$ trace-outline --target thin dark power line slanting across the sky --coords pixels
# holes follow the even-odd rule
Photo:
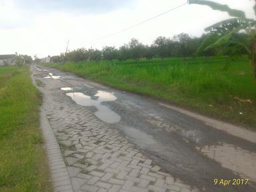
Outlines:
[[[148,21],[151,21],[151,20],[153,20],[153,19],[155,19],[155,18],[157,18],[157,17],[160,17],[160,16],[162,16],[162,15],[165,15],[166,13],[169,13],[169,12],[171,12],[171,11],[174,11],[175,9],[179,9],[179,8],[182,7],[183,5],[186,5],[187,3],[188,3],[188,1],[187,1],[186,3],[183,3],[183,4],[179,5],[179,6],[177,6],[177,7],[171,8],[171,9],[169,9],[169,10],[163,12],[163,13],[160,13],[159,15],[155,15],[154,17],[151,17],[151,18],[149,18],[149,19],[147,19],[147,20],[145,20],[145,21],[141,21],[140,23],[137,23],[137,24],[135,24],[135,25],[132,25],[131,27],[127,27],[127,28],[125,28],[125,29],[123,29],[123,30],[121,30],[121,31],[117,31],[117,32],[111,33],[111,34],[109,34],[109,35],[105,35],[105,36],[103,36],[103,37],[99,37],[99,38],[93,39],[92,41],[97,41],[97,40],[100,40],[100,39],[105,39],[105,38],[107,38],[107,37],[111,37],[111,36],[113,36],[113,35],[117,35],[117,34],[119,34],[119,33],[122,33],[122,32],[124,32],[124,31],[129,30],[129,29],[132,29],[132,28],[134,28],[134,27],[137,27],[138,25],[141,25],[141,24],[143,24],[143,23],[146,23],[146,22],[148,22]]]

